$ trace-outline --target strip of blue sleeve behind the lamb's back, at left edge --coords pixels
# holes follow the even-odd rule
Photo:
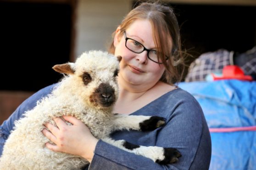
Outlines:
[[[36,106],[37,101],[48,95],[54,86],[55,84],[47,86],[30,96],[17,107],[16,111],[13,112],[7,120],[3,122],[3,124],[0,126],[0,155],[2,154],[6,139],[10,135],[11,130],[13,130],[14,122],[20,119],[24,112],[33,109],[33,107]]]

